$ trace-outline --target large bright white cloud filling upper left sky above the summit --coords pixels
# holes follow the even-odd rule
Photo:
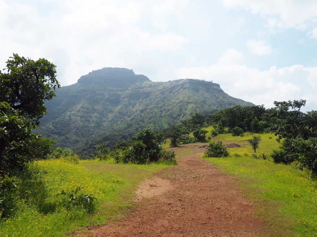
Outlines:
[[[103,67],[135,69],[154,61],[166,62],[189,43],[169,29],[168,19],[181,18],[186,1],[69,0],[54,4],[56,9],[41,9],[32,2],[0,0],[0,45],[5,46],[1,48],[1,69],[13,52],[46,58],[57,66],[61,84],[69,85]]]

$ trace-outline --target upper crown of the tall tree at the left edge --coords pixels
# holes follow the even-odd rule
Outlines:
[[[13,54],[6,62],[7,73],[0,72],[0,101],[5,101],[19,115],[39,125],[47,112],[44,100],[55,96],[60,88],[56,79],[56,66],[44,58],[37,61]]]

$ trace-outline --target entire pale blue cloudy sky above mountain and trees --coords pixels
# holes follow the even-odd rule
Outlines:
[[[316,0],[0,0],[0,26],[0,69],[12,53],[46,58],[62,86],[123,67],[317,110]]]

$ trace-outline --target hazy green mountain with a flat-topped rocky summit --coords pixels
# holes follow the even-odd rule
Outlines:
[[[251,106],[219,84],[197,79],[152,82],[126,68],[103,68],[56,90],[45,102],[48,113],[39,132],[60,146],[90,154],[97,143],[126,140],[140,128],[166,128],[194,112]]]

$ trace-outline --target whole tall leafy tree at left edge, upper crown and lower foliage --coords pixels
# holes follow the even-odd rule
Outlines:
[[[44,100],[51,100],[60,84],[56,66],[44,58],[34,61],[13,54],[6,63],[7,73],[0,71],[0,162],[14,166],[32,159],[26,152],[36,136],[31,129],[47,112]]]

